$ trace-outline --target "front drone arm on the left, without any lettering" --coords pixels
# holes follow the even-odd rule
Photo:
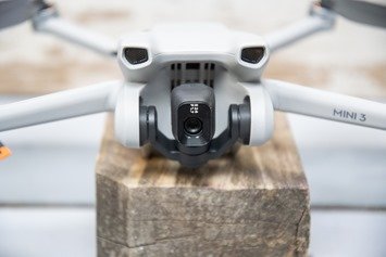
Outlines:
[[[121,86],[112,81],[0,105],[0,131],[113,111]]]

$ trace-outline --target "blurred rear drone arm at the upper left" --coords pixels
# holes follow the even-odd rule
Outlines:
[[[33,25],[36,31],[54,35],[104,55],[116,55],[114,40],[61,18],[53,7],[39,11],[33,17]]]

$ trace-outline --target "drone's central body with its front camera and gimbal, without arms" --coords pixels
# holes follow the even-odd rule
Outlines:
[[[117,57],[126,82],[117,97],[115,134],[124,145],[149,141],[166,156],[197,166],[238,139],[259,145],[271,138],[273,107],[259,86],[269,60],[262,38],[216,24],[170,24],[127,36]],[[246,108],[236,116],[248,116],[236,118],[244,131],[233,131],[232,143],[224,136],[232,133],[231,105]],[[154,125],[144,121],[149,107]],[[189,124],[197,131],[189,131]]]

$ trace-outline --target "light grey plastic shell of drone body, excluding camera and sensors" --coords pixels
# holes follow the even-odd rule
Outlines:
[[[241,60],[244,48],[263,47],[265,54],[257,64]],[[126,48],[145,48],[148,61],[133,65],[124,56]],[[251,103],[250,145],[269,140],[273,130],[273,106],[260,85],[269,60],[269,49],[257,35],[228,30],[219,24],[161,25],[152,30],[127,35],[120,42],[119,63],[126,80],[116,105],[115,134],[128,147],[139,147],[139,104],[153,105],[158,127],[174,139],[171,121],[171,64],[214,63],[215,133],[228,125],[231,104]],[[184,82],[184,81],[182,81]]]

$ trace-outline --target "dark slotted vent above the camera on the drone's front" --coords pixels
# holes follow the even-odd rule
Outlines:
[[[183,83],[204,83],[213,87],[214,63],[173,63],[171,64],[172,89]]]

